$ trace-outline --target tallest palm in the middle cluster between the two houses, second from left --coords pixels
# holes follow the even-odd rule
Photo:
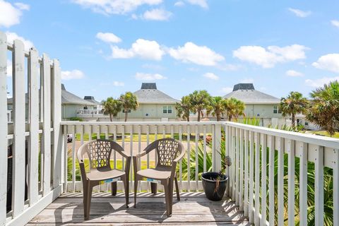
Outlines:
[[[191,99],[192,111],[198,113],[198,121],[200,121],[203,109],[208,108],[210,102],[212,102],[212,97],[206,90],[196,90],[189,95],[189,98]]]

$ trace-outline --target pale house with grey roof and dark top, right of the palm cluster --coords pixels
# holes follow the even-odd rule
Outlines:
[[[233,91],[224,96],[224,98],[230,97],[244,102],[246,117],[261,119],[262,126],[286,123],[279,109],[280,99],[256,90],[253,83],[234,85]]]

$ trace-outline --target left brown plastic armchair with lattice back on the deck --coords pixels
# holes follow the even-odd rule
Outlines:
[[[112,150],[116,150],[120,155],[126,157],[125,170],[112,169],[110,158]],[[124,152],[124,149],[114,141],[97,139],[81,145],[78,150],[78,162],[81,169],[81,179],[83,181],[83,213],[85,220],[90,216],[90,200],[92,198],[93,187],[102,181],[111,179],[121,179],[124,182],[126,208],[129,207],[129,169],[131,166],[131,156]],[[90,172],[85,171],[84,158],[88,157],[90,162]],[[111,182],[112,196],[117,194],[117,181]]]

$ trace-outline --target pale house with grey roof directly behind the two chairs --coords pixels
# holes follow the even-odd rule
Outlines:
[[[175,104],[179,100],[157,89],[156,83],[142,83],[141,89],[134,92],[139,107],[129,113],[129,121],[177,121]],[[124,119],[124,112],[118,115]]]

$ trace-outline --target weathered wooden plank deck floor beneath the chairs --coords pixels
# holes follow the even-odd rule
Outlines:
[[[129,208],[124,194],[115,197],[107,193],[93,194],[90,220],[83,220],[82,194],[63,194],[28,225],[250,225],[228,198],[209,201],[201,192],[182,193],[181,201],[174,199],[172,217],[165,213],[165,196],[160,193],[138,194]]]

